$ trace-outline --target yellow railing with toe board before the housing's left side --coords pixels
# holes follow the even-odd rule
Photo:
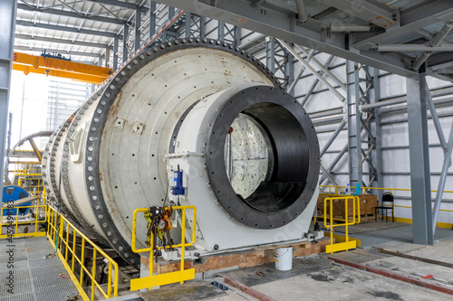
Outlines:
[[[169,209],[169,207],[166,207]],[[151,232],[151,237],[149,240],[149,248],[144,249],[137,249],[136,248],[136,240],[137,240],[137,213],[149,212],[149,208],[140,208],[136,209],[133,214],[133,221],[132,221],[132,251],[135,253],[142,253],[142,252],[149,252],[149,277],[140,277],[138,279],[131,279],[130,280],[130,290],[138,290],[143,288],[152,287],[159,287],[164,286],[172,283],[180,283],[182,284],[184,281],[191,280],[195,277],[195,268],[184,269],[184,252],[186,247],[192,247],[195,244],[196,239],[196,225],[197,225],[197,208],[195,206],[172,206],[171,209],[173,212],[177,210],[182,211],[181,217],[181,243],[178,245],[172,245],[172,248],[180,248],[180,270],[176,272],[170,272],[165,274],[159,275],[152,275],[153,274],[153,257],[154,257],[154,246],[153,246],[153,234]],[[186,238],[186,211],[192,210],[193,217],[192,217],[192,240],[189,242],[184,242]],[[158,247],[158,249],[164,249],[164,247]],[[169,246],[165,246],[165,249],[169,249]],[[158,254],[156,254],[158,256]]]

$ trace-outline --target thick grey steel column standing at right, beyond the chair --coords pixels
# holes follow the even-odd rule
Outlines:
[[[433,244],[425,76],[408,77],[410,186],[414,243]]]

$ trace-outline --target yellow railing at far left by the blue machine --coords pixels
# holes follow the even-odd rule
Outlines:
[[[32,201],[35,205],[8,207],[7,203],[0,210],[0,240],[18,237],[41,237],[45,236],[45,229],[40,228],[40,223],[47,221],[47,198],[45,192],[42,200]],[[32,214],[26,215],[28,219],[19,221],[21,209],[28,209]],[[24,226],[24,227],[19,227]]]

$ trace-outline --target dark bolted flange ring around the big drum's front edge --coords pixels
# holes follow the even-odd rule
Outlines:
[[[101,174],[99,163],[103,128],[117,95],[121,93],[121,89],[123,89],[128,80],[130,80],[136,72],[146,66],[149,61],[152,61],[159,56],[169,52],[195,47],[211,48],[234,53],[244,61],[254,65],[256,70],[262,71],[269,80],[275,83],[275,85],[280,85],[280,82],[275,78],[275,75],[269,71],[263,63],[257,61],[251,54],[240,48],[226,42],[190,38],[165,42],[156,46],[151,45],[145,48],[142,52],[139,52],[135,57],[130,59],[130,61],[127,62],[105,86],[106,89],[102,93],[101,98],[95,103],[95,113],[92,118],[86,144],[85,156],[90,157],[92,161],[90,162],[90,165],[86,166],[85,184],[86,187],[89,187],[88,195],[91,200],[92,211],[94,212],[98,223],[102,225],[101,229],[105,237],[110,241],[112,248],[116,249],[123,259],[136,267],[140,266],[140,257],[131,252],[130,241],[125,240],[120,235],[120,231],[117,229],[115,221],[111,219],[109,207],[107,206],[102,193],[101,179],[99,177]]]

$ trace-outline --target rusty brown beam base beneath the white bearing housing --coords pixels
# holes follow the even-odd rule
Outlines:
[[[210,255],[198,260],[187,259],[184,262],[184,268],[195,268],[195,273],[203,273],[222,268],[247,268],[259,266],[268,262],[275,262],[275,249],[293,247],[293,257],[308,256],[311,254],[321,254],[325,252],[325,246],[330,241],[323,239],[317,243],[297,242],[280,245],[269,245],[256,247],[240,252],[229,252],[219,255]],[[141,263],[149,268],[149,258],[141,256]],[[159,259],[159,262],[153,264],[153,273],[163,274],[175,272],[180,269],[179,261],[167,261]]]

